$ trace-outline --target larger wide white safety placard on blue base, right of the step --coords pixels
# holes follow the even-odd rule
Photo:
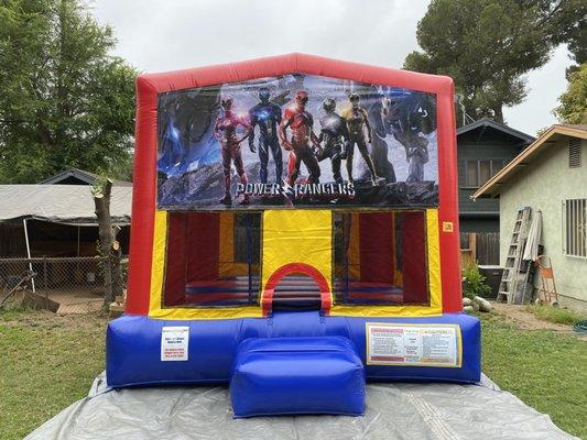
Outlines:
[[[367,322],[367,364],[458,367],[458,324]]]

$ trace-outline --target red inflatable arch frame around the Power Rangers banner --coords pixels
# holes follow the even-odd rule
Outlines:
[[[137,138],[132,234],[126,312],[149,314],[153,230],[156,208],[157,95],[292,73],[390,85],[436,95],[438,141],[438,230],[443,311],[461,310],[458,188],[454,84],[444,76],[368,66],[313,55],[290,54],[198,67],[137,78]]]

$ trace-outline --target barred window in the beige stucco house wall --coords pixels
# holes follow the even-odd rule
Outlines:
[[[587,199],[563,201],[563,253],[587,257]]]

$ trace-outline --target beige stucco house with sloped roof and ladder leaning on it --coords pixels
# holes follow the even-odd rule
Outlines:
[[[587,125],[551,127],[472,195],[496,197],[501,264],[518,209],[542,211],[541,244],[552,261],[558,301],[587,311]]]

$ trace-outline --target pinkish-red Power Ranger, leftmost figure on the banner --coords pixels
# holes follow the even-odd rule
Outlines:
[[[252,128],[244,118],[239,118],[232,112],[232,98],[222,98],[220,106],[224,112],[221,116],[218,116],[214,124],[214,136],[222,145],[222,168],[225,174],[225,197],[219,202],[230,205],[232,202],[232,198],[230,197],[230,162],[232,161],[235,163],[240,183],[247,184],[248,179],[244,173],[244,166],[242,165],[240,143],[249,136]],[[237,128],[239,125],[247,130],[240,139],[237,136]],[[240,204],[248,205],[249,196],[244,195]]]

